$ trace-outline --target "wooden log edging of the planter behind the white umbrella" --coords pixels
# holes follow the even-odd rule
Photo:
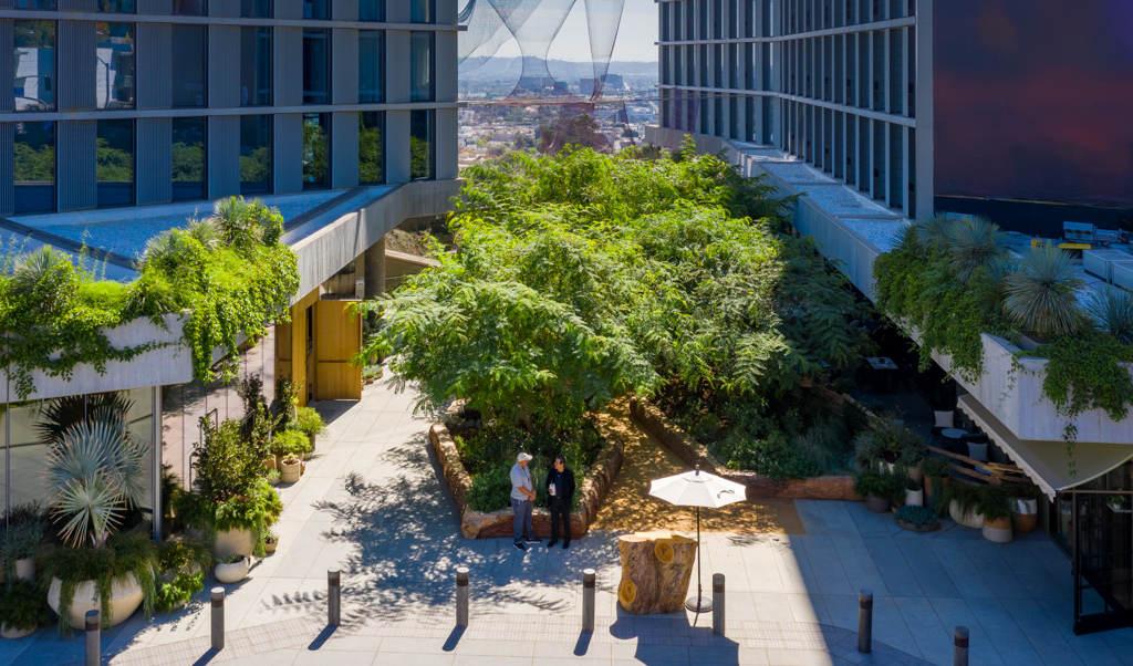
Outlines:
[[[688,435],[668,419],[657,405],[647,400],[633,398],[630,413],[650,435],[680,458],[689,467],[700,469],[747,486],[748,500],[780,497],[783,500],[847,500],[860,501],[853,492],[853,477],[828,475],[809,479],[776,480],[765,475],[727,469],[708,447]]]

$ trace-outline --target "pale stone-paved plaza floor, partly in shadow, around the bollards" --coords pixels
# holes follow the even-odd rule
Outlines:
[[[629,616],[614,594],[621,531],[526,554],[510,539],[462,538],[427,444],[431,419],[415,417],[412,402],[380,382],[359,403],[318,405],[330,433],[303,479],[281,486],[279,550],[225,586],[225,650],[208,651],[202,595],[179,613],[107,632],[110,663],[952,664],[956,625],[971,630],[972,664],[1133,663],[1133,631],[1072,634],[1070,563],[1045,535],[1000,546],[951,521],[917,535],[853,502],[795,502],[802,530],[787,531],[806,533],[704,535],[705,580],[727,581],[726,638],[712,635],[710,616]],[[463,632],[453,629],[459,565],[471,570]],[[598,571],[593,634],[579,631],[585,567]],[[341,569],[343,584],[333,632],[324,627],[329,569]],[[855,650],[860,589],[875,598],[869,657]],[[0,665],[82,658],[82,637],[54,629],[0,641]]]

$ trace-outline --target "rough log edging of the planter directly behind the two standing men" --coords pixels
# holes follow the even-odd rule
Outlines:
[[[585,535],[594,519],[598,514],[602,502],[610,493],[610,487],[614,484],[617,472],[622,469],[622,455],[625,451],[625,443],[603,425],[597,424],[606,444],[598,452],[597,462],[590,468],[578,486],[577,493],[581,494],[579,510],[571,513],[571,538]],[[468,507],[468,490],[472,487],[472,478],[457,451],[457,444],[452,441],[449,428],[441,421],[433,424],[428,430],[429,442],[433,451],[441,462],[444,471],[444,480],[452,493],[452,498],[457,502],[457,511],[460,513],[460,531],[468,539],[487,539],[512,536],[514,523],[514,512],[511,509],[503,509],[484,513],[472,511]],[[539,480],[538,483],[542,483]],[[551,512],[544,507],[536,507],[531,516],[531,526],[535,528],[535,536],[540,539],[551,537]]]

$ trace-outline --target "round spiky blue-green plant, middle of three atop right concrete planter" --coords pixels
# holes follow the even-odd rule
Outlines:
[[[1070,254],[1045,242],[1023,255],[1019,271],[1007,276],[1004,309],[1024,331],[1068,335],[1082,319],[1075,296],[1081,287]]]

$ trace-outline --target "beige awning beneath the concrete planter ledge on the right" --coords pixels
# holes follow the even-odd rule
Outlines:
[[[960,409],[1021,467],[1053,501],[1055,493],[1092,481],[1133,458],[1133,445],[1077,442],[1073,459],[1062,439],[1020,439],[971,395],[960,399]],[[1070,463],[1073,460],[1074,470]]]

